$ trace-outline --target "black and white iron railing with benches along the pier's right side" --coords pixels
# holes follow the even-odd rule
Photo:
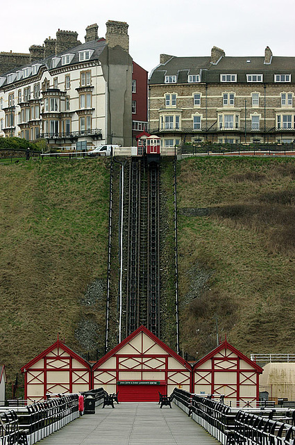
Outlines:
[[[174,403],[224,445],[295,445],[295,411],[229,407],[212,396],[174,389]]]

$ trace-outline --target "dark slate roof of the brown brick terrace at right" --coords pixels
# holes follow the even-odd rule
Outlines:
[[[189,74],[201,74],[201,82],[208,83],[219,82],[220,74],[237,74],[237,82],[244,83],[246,74],[263,74],[263,81],[271,83],[274,74],[291,74],[291,82],[295,83],[295,57],[273,56],[271,63],[267,65],[264,63],[264,56],[224,56],[217,65],[213,65],[210,57],[171,56],[167,63],[154,68],[149,83],[165,83],[166,75],[176,75],[177,83],[187,83]]]

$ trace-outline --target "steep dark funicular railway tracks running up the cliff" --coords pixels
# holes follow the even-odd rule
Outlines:
[[[142,159],[129,165],[126,334],[145,325],[160,334],[159,172]]]

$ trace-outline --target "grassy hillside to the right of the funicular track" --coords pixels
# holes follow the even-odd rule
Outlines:
[[[293,159],[178,163],[181,339],[193,356],[217,331],[244,353],[294,352],[294,204]]]

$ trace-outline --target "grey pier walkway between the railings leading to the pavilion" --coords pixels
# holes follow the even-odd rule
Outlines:
[[[218,445],[201,426],[174,403],[129,402],[96,407],[62,430],[42,439],[42,445]]]

